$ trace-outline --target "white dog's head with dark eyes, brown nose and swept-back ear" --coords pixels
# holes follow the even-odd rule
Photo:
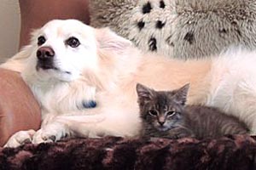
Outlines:
[[[83,71],[97,70],[99,48],[122,50],[131,42],[108,29],[78,20],[51,20],[32,33],[30,70],[41,79],[73,81]]]

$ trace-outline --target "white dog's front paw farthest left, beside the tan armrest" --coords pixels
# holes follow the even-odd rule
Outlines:
[[[3,147],[15,148],[22,144],[27,144],[32,142],[32,137],[36,133],[34,130],[19,131],[12,135],[8,142]]]

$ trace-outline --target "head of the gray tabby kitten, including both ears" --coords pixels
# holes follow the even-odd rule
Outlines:
[[[138,104],[143,122],[160,131],[181,126],[188,90],[189,84],[172,91],[155,91],[138,83]]]

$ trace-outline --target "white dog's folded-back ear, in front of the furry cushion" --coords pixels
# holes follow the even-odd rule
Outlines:
[[[98,48],[122,52],[132,46],[132,42],[120,37],[109,28],[96,29]]]

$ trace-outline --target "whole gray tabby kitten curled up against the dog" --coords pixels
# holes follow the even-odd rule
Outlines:
[[[173,91],[155,91],[137,84],[142,137],[205,139],[249,132],[247,125],[235,116],[212,107],[185,105],[188,90],[189,84]]]

